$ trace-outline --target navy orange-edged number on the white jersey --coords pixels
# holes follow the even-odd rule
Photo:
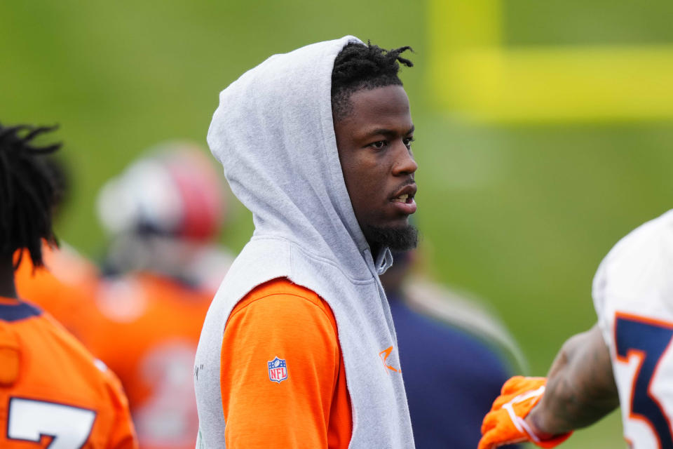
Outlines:
[[[659,362],[673,339],[673,323],[620,314],[615,317],[617,360],[628,363],[632,356],[640,358],[631,387],[629,417],[642,420],[651,427],[660,449],[673,449],[671,420],[651,391]],[[671,382],[671,380],[666,380]]]

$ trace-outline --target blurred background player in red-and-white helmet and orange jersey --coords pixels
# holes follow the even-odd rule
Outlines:
[[[194,446],[193,358],[231,262],[213,243],[226,211],[223,192],[195,145],[150,149],[100,192],[98,215],[109,234],[100,269],[73,251],[55,252],[49,273],[20,286],[39,302],[48,300],[46,290],[75,290],[69,297],[78,299],[45,307],[74,312],[64,322],[118,374],[144,449]]]

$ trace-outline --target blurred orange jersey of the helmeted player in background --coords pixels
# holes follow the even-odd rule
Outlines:
[[[87,347],[119,376],[143,449],[192,449],[193,362],[210,290],[152,274],[101,279]]]

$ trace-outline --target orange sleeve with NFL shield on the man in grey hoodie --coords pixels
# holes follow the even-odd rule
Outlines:
[[[228,449],[348,448],[337,321],[313,291],[275,279],[248,293],[226,322],[220,370]]]

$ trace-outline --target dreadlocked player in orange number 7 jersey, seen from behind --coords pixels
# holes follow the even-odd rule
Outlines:
[[[0,126],[0,447],[136,448],[114,374],[15,291],[22,260],[40,267],[43,241],[56,245],[59,192],[45,158],[60,145],[33,143],[50,129]]]

